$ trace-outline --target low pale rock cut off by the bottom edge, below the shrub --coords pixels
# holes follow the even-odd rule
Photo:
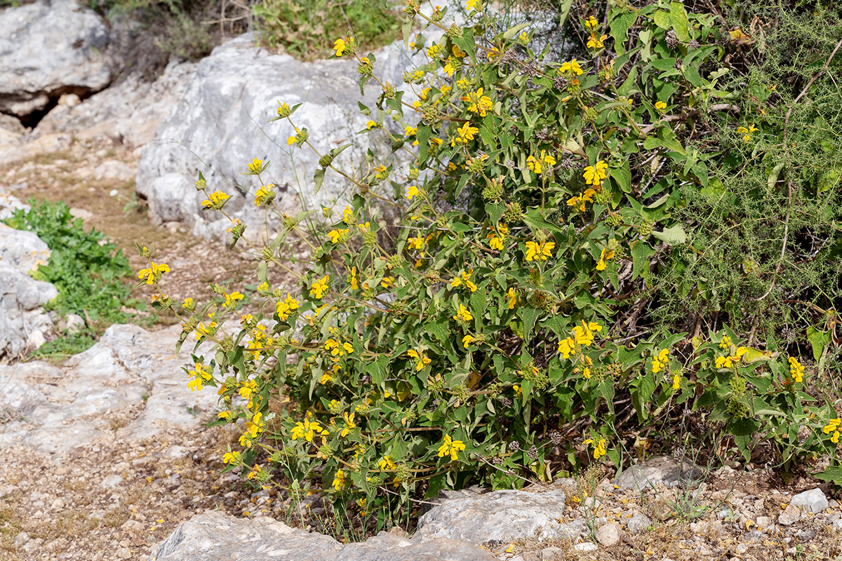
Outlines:
[[[408,540],[386,532],[343,545],[333,537],[290,528],[269,517],[235,518],[208,512],[182,523],[152,548],[149,561],[493,561],[470,543],[451,539]]]

